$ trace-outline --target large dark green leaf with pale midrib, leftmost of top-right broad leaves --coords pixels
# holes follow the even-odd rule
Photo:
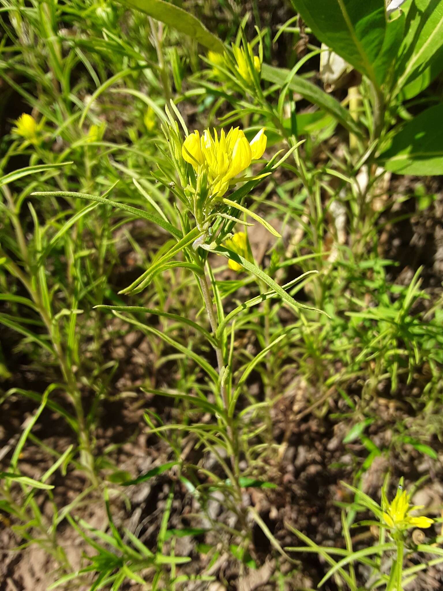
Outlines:
[[[292,0],[318,40],[376,81],[386,31],[385,0]]]

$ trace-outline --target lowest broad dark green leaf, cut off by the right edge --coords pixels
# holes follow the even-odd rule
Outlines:
[[[393,173],[443,174],[443,103],[420,113],[392,139],[379,163]]]

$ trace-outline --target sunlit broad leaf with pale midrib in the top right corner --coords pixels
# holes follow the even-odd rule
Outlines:
[[[423,72],[443,47],[443,0],[413,0],[405,31],[396,60],[397,91],[416,70]]]

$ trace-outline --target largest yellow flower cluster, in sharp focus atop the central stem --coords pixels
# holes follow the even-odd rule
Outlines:
[[[249,143],[243,131],[236,127],[231,128],[227,134],[222,129],[220,138],[216,129],[214,137],[209,129],[201,137],[198,131],[194,131],[185,139],[181,153],[184,160],[193,165],[197,174],[207,174],[209,194],[212,197],[222,197],[229,182],[245,170],[252,160],[261,158],[265,148],[264,129],[260,129]]]

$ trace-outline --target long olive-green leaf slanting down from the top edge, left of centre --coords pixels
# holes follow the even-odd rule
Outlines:
[[[164,0],[118,0],[118,2],[126,7],[146,12],[150,17],[164,22],[180,33],[189,35],[208,49],[220,53],[224,50],[222,41],[207,30],[198,18],[187,10],[174,6],[171,2],[164,2]]]

